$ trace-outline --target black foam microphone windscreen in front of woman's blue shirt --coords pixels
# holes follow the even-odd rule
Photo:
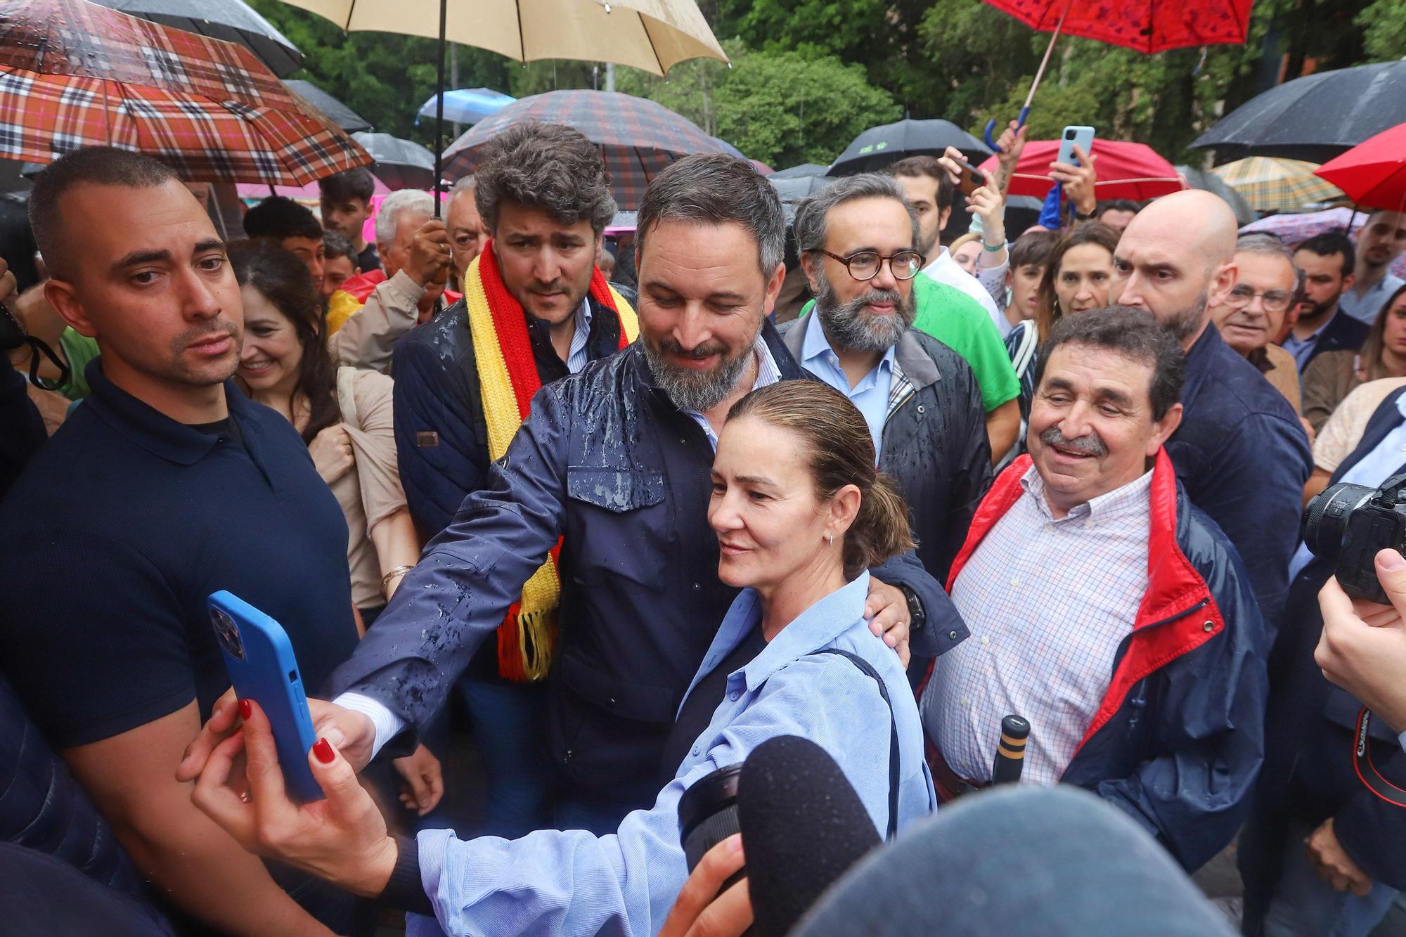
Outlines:
[[[879,846],[869,812],[824,748],[768,739],[737,784],[756,937],[782,937],[859,858]]]

